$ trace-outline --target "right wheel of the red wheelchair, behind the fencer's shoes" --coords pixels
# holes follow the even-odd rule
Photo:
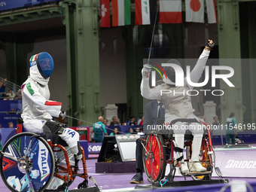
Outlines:
[[[203,142],[205,142],[205,141],[203,141]],[[209,157],[208,157],[207,152],[208,152],[207,148],[203,148],[203,146],[201,146],[200,153],[199,153],[199,160],[203,161],[200,163],[203,167],[206,168],[207,171],[212,172],[212,166],[210,166],[210,164],[209,164]],[[187,157],[187,160],[190,160],[190,146],[186,146],[186,157]],[[188,162],[187,162],[187,166],[189,166]],[[194,180],[209,180],[212,178],[212,175],[192,175],[191,177]]]

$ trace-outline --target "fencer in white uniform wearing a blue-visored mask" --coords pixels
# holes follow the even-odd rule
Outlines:
[[[43,52],[29,59],[29,78],[22,84],[23,127],[26,132],[43,133],[47,126],[51,134],[58,135],[69,145],[72,154],[80,160],[82,157],[79,145],[79,134],[53,121],[53,117],[62,116],[61,102],[50,101],[48,82],[53,72],[53,58]],[[52,117],[53,116],[53,117]]]

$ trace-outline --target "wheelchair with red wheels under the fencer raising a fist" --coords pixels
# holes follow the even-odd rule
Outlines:
[[[163,185],[161,182],[163,182],[165,177],[166,164],[172,165],[170,166],[169,174],[166,176],[166,181],[174,180],[176,167],[179,169],[181,175],[184,176],[184,180],[186,180],[187,176],[192,177],[194,180],[210,180],[212,178],[212,163],[214,163],[214,153],[212,150],[209,124],[199,122],[197,119],[176,119],[172,120],[170,124],[173,125],[178,121],[185,123],[201,123],[201,125],[205,125],[207,127],[205,133],[203,134],[199,155],[200,163],[206,168],[206,172],[181,172],[182,158],[175,159],[174,154],[176,153],[176,157],[178,157],[177,153],[183,153],[183,149],[177,147],[173,130],[168,130],[168,134],[151,131],[146,136],[145,145],[143,145],[142,157],[145,173],[148,181],[151,181],[152,184],[159,182],[160,185]],[[187,133],[184,136],[184,146],[186,148],[186,158],[184,158],[184,162],[187,163],[188,166],[192,154],[193,136]],[[169,160],[166,160],[166,151],[170,151]]]

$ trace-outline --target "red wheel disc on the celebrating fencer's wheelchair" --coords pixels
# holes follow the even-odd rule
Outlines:
[[[146,174],[148,178],[151,178],[152,175],[152,181],[157,181],[163,167],[163,147],[160,145],[159,139],[151,135],[148,136],[145,148],[150,153],[150,157],[145,160]],[[145,151],[145,157],[147,156],[146,153]]]

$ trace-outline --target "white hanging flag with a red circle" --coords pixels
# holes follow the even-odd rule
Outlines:
[[[186,22],[204,23],[203,0],[186,1]]]

